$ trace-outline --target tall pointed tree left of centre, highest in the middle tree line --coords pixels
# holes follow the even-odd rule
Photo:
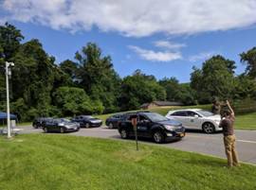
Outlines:
[[[109,56],[101,56],[96,43],[87,43],[76,53],[79,61],[78,79],[84,91],[102,102],[104,112],[117,112],[120,78]]]

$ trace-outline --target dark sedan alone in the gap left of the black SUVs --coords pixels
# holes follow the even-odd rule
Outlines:
[[[80,123],[81,128],[98,128],[102,125],[102,120],[91,115],[79,115],[72,119],[73,122]]]

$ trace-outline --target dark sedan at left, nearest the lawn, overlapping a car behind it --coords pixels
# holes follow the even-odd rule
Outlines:
[[[45,132],[71,132],[80,130],[80,125],[68,119],[47,119],[43,124]]]

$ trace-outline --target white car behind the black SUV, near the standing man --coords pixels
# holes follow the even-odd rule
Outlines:
[[[203,130],[206,133],[222,130],[219,126],[221,116],[201,109],[170,111],[166,117],[180,121],[188,130]]]

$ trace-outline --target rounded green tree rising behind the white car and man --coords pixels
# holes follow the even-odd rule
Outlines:
[[[235,63],[222,56],[214,56],[203,63],[202,69],[193,67],[191,86],[200,103],[209,103],[212,97],[231,97]]]

